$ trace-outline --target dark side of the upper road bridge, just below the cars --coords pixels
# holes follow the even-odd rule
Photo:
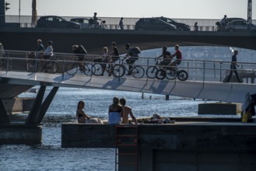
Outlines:
[[[12,38],[13,37],[13,38]],[[89,54],[102,54],[102,47],[111,48],[117,42],[121,53],[124,44],[139,46],[142,50],[165,46],[228,46],[256,50],[256,32],[163,32],[135,30],[54,30],[54,29],[0,29],[0,40],[6,50],[36,51],[37,39],[43,44],[54,42],[55,52],[72,53],[73,44],[82,44]]]

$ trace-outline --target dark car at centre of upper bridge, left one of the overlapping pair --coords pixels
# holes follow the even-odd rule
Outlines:
[[[177,27],[157,18],[142,18],[135,23],[135,30],[175,31]]]

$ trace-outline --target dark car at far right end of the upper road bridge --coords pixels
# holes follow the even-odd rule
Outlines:
[[[226,31],[256,31],[256,26],[245,20],[233,20],[225,26]]]

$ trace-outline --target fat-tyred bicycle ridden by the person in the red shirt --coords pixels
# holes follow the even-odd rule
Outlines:
[[[156,79],[179,79],[180,81],[186,81],[188,79],[188,72],[184,70],[179,70],[177,68],[177,65],[174,67],[167,66],[163,67],[163,69],[160,69],[156,72]]]

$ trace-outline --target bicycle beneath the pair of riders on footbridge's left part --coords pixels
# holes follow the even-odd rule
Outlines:
[[[53,55],[51,55],[52,57]],[[44,71],[54,74],[58,72],[58,63],[54,59],[47,59],[47,60],[33,60],[30,59],[26,61],[26,72],[37,72],[37,71]]]

